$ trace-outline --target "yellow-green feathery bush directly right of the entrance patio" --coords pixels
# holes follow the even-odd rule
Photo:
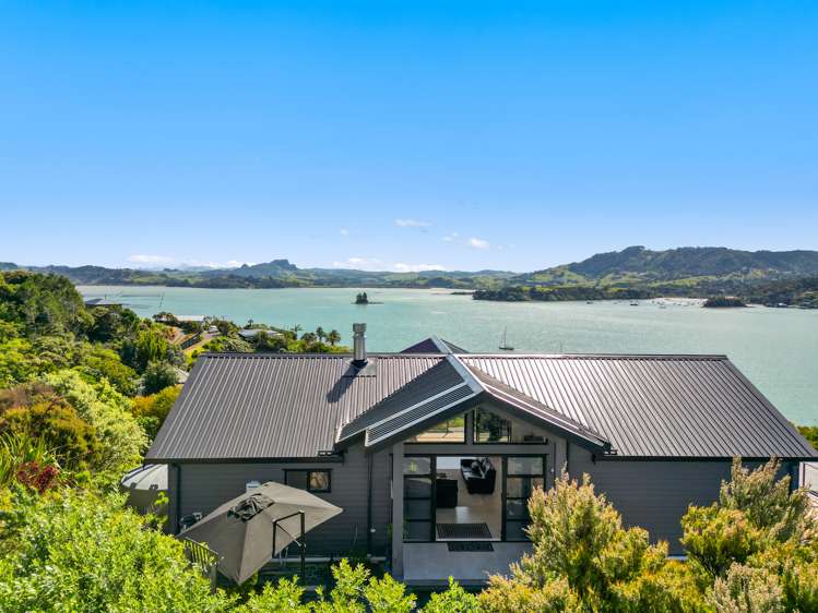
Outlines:
[[[696,592],[666,567],[667,544],[650,544],[641,528],[625,529],[621,517],[596,495],[590,478],[562,474],[548,492],[529,500],[533,552],[511,566],[511,578],[491,577],[481,602],[545,611],[681,611]],[[526,604],[526,602],[529,604]],[[583,610],[584,610],[583,609]]]

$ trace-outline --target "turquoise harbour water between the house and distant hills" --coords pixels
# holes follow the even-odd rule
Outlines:
[[[496,351],[503,328],[518,352],[726,353],[792,421],[818,424],[818,311],[701,309],[643,301],[483,302],[446,290],[370,289],[383,304],[357,306],[355,289],[189,289],[80,287],[118,298],[142,316],[217,315],[282,327],[368,324],[372,351],[400,351],[437,334],[472,351]]]

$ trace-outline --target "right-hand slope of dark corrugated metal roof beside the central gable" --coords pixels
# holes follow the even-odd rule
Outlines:
[[[724,356],[459,356],[619,456],[816,457]]]

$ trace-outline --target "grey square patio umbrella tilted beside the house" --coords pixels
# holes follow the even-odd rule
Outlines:
[[[309,492],[269,482],[224,503],[179,538],[206,543],[221,557],[218,570],[238,585],[295,541],[304,580],[304,536],[342,512]]]

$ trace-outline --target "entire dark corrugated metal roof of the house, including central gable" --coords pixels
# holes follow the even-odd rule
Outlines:
[[[620,457],[818,457],[723,356],[202,356],[146,460],[315,458],[494,399]],[[352,372],[352,374],[357,371]],[[340,445],[341,446],[341,445]]]

